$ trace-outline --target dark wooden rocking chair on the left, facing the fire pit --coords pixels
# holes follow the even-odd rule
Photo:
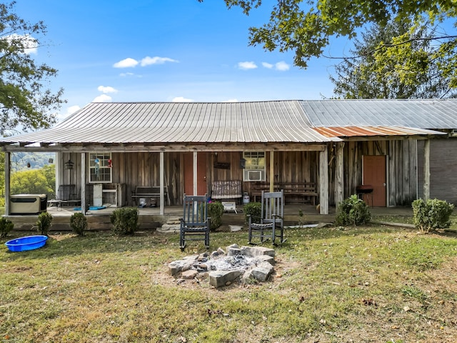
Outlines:
[[[179,247],[184,251],[186,241],[204,241],[206,249],[209,249],[209,222],[208,204],[205,195],[184,194],[184,213],[179,219]]]

